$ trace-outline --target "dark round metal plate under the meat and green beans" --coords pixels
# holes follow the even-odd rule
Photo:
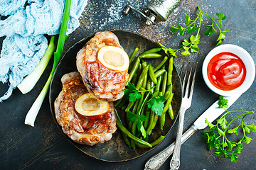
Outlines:
[[[132,54],[135,47],[139,47],[139,53],[145,50],[149,50],[150,48],[153,48],[153,47],[159,47],[159,45],[157,45],[156,42],[153,42],[135,33],[130,33],[123,30],[114,30],[112,32],[115,35],[117,35],[117,37],[119,38],[119,42],[121,43],[122,47],[124,48],[124,50],[127,52],[128,55]],[[92,38],[92,36],[82,39],[79,42],[75,43],[75,45],[70,47],[70,49],[63,56],[62,60],[60,60],[60,63],[58,64],[58,67],[55,70],[53,79],[50,84],[50,96],[49,96],[50,111],[53,114],[54,120],[55,120],[54,101],[55,101],[55,98],[58,97],[58,94],[62,89],[62,84],[60,82],[60,79],[66,73],[77,71],[77,67],[75,64],[76,55],[78,51],[85,45],[85,43],[88,40],[90,40],[90,38]],[[148,63],[150,62],[154,66],[154,64],[161,62],[161,59],[147,60],[146,62]],[[171,120],[169,118],[169,115],[166,115],[166,123],[164,125],[164,130],[161,130],[159,128],[159,125],[157,124],[156,128],[149,136],[150,138],[149,142],[156,140],[160,135],[167,135],[171,131],[171,128],[174,125],[174,122],[177,118],[178,111],[181,107],[181,81],[175,67],[173,71],[173,85],[174,85],[174,89],[173,89],[174,100],[172,104],[174,109],[174,120]],[[119,115],[122,116],[124,115],[124,113],[119,112]],[[57,123],[56,120],[55,120],[55,123]],[[60,125],[58,125],[58,127],[61,130]],[[85,154],[91,157],[94,157],[96,159],[100,159],[107,162],[127,161],[130,159],[140,157],[146,152],[149,152],[151,149],[154,149],[154,147],[151,149],[140,149],[140,148],[132,149],[127,147],[127,145],[125,145],[122,139],[122,136],[119,130],[117,130],[117,132],[114,132],[113,137],[110,141],[102,144],[97,144],[92,147],[87,145],[80,145],[76,142],[73,142],[73,140],[70,140],[68,136],[66,137],[73,145],[75,145],[75,147],[80,149]]]

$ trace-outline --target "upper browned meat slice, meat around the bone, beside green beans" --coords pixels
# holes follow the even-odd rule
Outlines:
[[[127,73],[128,68],[122,71],[110,69],[98,60],[99,50],[108,46],[122,49],[114,33],[110,31],[96,33],[78,52],[76,64],[88,91],[102,100],[117,101],[124,95],[129,74]],[[111,59],[111,57],[111,55],[106,57],[106,60]]]

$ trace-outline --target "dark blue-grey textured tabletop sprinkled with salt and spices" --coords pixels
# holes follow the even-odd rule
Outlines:
[[[123,1],[122,1],[123,2]],[[144,8],[147,1],[124,0],[124,4],[134,4],[137,8]],[[123,3],[115,0],[90,0],[85,11],[80,18],[80,28],[75,30],[66,40],[64,51],[68,50],[75,42],[92,35],[101,30],[129,30],[134,33],[144,35],[154,41],[159,41],[167,47],[177,48],[181,45],[183,37],[176,33],[171,33],[169,28],[184,23],[184,13],[196,15],[196,6],[200,6],[202,11],[215,15],[216,12],[223,12],[228,18],[223,21],[223,28],[231,28],[226,33],[226,42],[245,48],[256,60],[256,2],[255,0],[184,0],[171,13],[168,21],[159,22],[153,26],[146,26],[144,19],[135,14],[129,13],[123,16],[120,12]],[[208,18],[203,18],[203,25],[208,24]],[[201,31],[201,35],[204,29]],[[188,35],[184,35],[188,38]],[[201,36],[200,53],[191,56],[181,56],[175,60],[177,69],[181,69],[181,64],[188,61],[198,61],[198,74],[196,77],[196,88],[193,94],[191,108],[186,111],[184,130],[187,130],[193,121],[198,118],[203,111],[218,99],[203,81],[201,76],[201,65],[204,57],[215,47],[215,40],[218,35]],[[2,42],[3,38],[1,38]],[[24,118],[33,101],[40,93],[50,73],[50,65],[44,72],[43,77],[38,81],[35,88],[26,95],[22,95],[18,89],[14,90],[12,96],[3,103],[0,103],[0,169],[144,169],[144,164],[149,157],[156,152],[174,142],[178,124],[164,142],[153,151],[144,156],[128,162],[109,163],[93,159],[75,148],[62,132],[58,130],[50,113],[49,100],[43,102],[35,127],[24,125]],[[245,94],[242,94],[229,110],[256,111],[255,106],[255,81]],[[0,94],[4,94],[7,85],[0,84]],[[230,115],[231,120],[235,115]],[[255,114],[249,115],[245,119],[246,124],[256,124]],[[189,138],[181,147],[181,167],[180,169],[256,169],[256,133],[248,135],[253,140],[249,145],[244,145],[238,163],[230,162],[229,159],[215,157],[212,151],[206,147],[206,142],[202,139],[202,132],[198,131]],[[169,169],[167,160],[161,169]]]

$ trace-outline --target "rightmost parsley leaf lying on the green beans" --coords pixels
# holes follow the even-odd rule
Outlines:
[[[164,109],[164,101],[166,101],[164,96],[153,96],[146,104],[156,115],[161,115]]]

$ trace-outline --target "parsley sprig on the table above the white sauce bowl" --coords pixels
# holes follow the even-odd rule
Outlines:
[[[204,35],[213,35],[213,33],[217,33],[219,31],[219,36],[217,39],[217,44],[220,45],[223,41],[225,41],[225,33],[227,33],[230,29],[222,30],[223,28],[223,20],[227,18],[227,15],[221,12],[216,13],[216,16],[218,18],[213,18],[212,16],[209,16],[207,13],[204,13],[201,11],[201,8],[198,6],[198,15],[196,16],[196,19],[191,19],[191,16],[185,13],[186,18],[186,27],[181,26],[180,23],[178,23],[177,27],[171,26],[171,31],[173,33],[179,32],[180,35],[184,35],[185,31],[188,33],[194,33],[196,32],[196,35],[191,35],[188,40],[184,39],[181,45],[181,48],[179,49],[171,49],[164,47],[164,45],[159,45],[162,47],[164,52],[169,53],[169,55],[176,57],[176,52],[183,50],[181,52],[181,55],[191,55],[191,53],[195,53],[199,51],[198,44],[200,42],[201,35],[201,25],[202,25],[202,15],[208,16],[212,20],[211,24],[206,25],[206,31],[204,32]],[[199,22],[199,23],[198,23]],[[198,24],[198,26],[197,26]]]

